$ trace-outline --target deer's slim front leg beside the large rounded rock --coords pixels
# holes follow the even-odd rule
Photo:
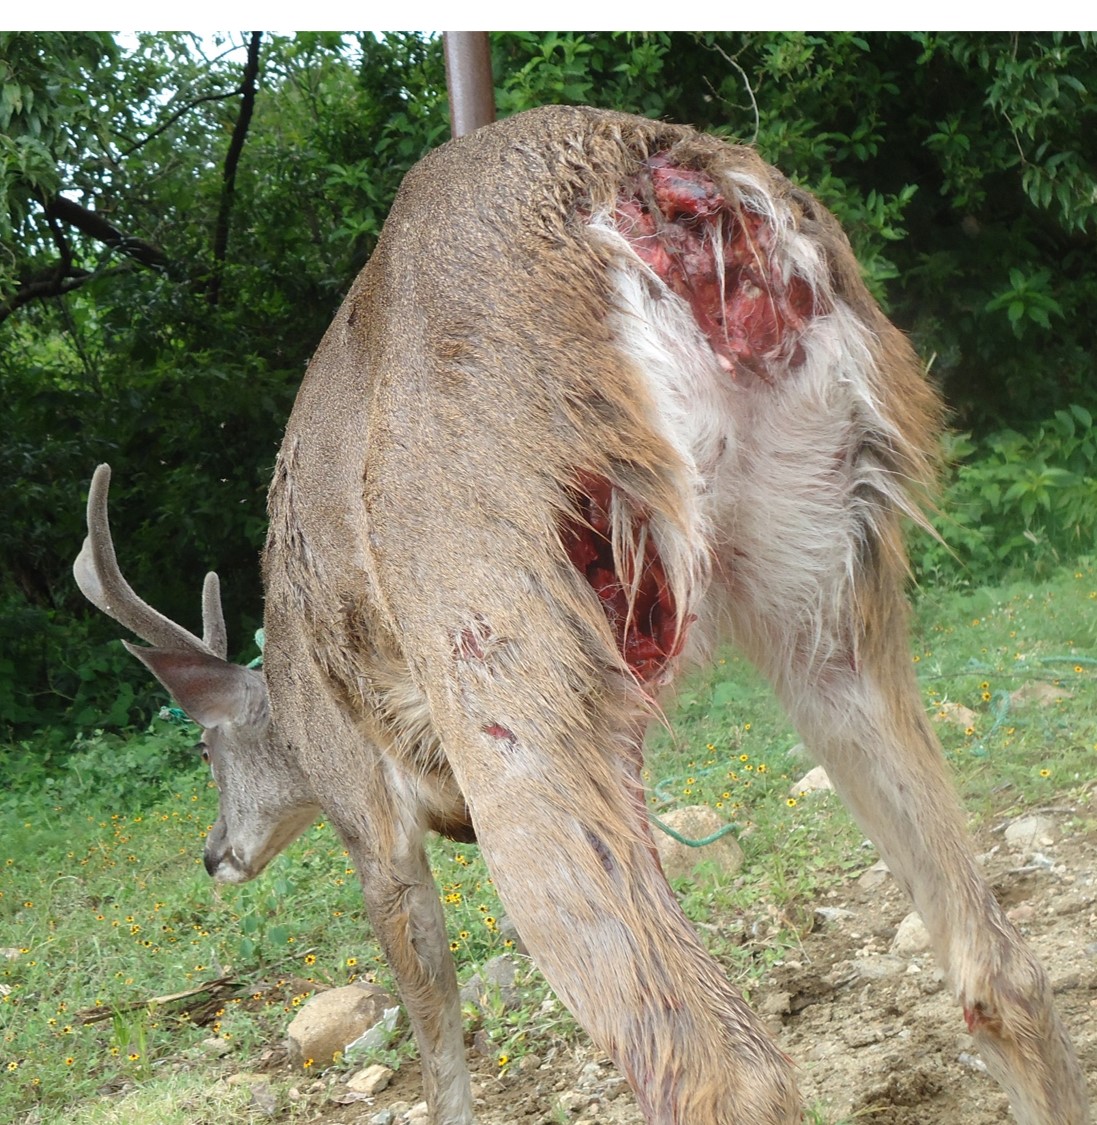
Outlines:
[[[378,826],[370,827],[374,835]],[[399,835],[397,830],[392,850],[384,854],[353,834],[344,839],[358,867],[374,936],[396,976],[415,1034],[431,1123],[471,1125],[457,973],[442,906],[422,837]]]

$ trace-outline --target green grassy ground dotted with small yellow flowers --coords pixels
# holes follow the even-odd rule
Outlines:
[[[1095,567],[1040,586],[927,591],[916,603],[912,659],[973,817],[1054,803],[1090,784]],[[1040,693],[1041,705],[1024,705],[1018,691]],[[659,731],[650,748],[653,809],[705,803],[739,826],[743,873],[690,890],[685,906],[702,927],[759,903],[768,911],[767,954],[712,939],[749,991],[766,957],[795,942],[798,911],[875,856],[836,801],[790,789],[809,763],[734,655],[687,684],[673,724],[673,738]],[[190,737],[159,720],[126,744],[91,735],[48,788],[38,780],[0,796],[0,1119],[251,1119],[246,1088],[217,1083],[218,1074],[259,1066],[314,984],[390,983],[347,853],[325,825],[257,883],[217,886],[200,860],[216,792],[197,760],[167,788],[110,782],[141,747],[163,753]],[[502,908],[475,847],[439,843],[433,858],[464,978],[507,947]],[[501,1068],[576,1034],[558,1005],[542,1002],[533,973],[528,988],[522,1010],[483,1018]],[[290,1087],[308,1079],[276,1076],[279,1119],[307,1119],[308,1098]]]

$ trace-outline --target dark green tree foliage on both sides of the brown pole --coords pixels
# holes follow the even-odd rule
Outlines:
[[[501,116],[563,101],[690,122],[816,190],[977,435],[1097,406],[1091,36],[492,45]],[[253,655],[281,428],[401,178],[446,140],[443,75],[440,43],[412,33],[215,48],[0,33],[0,724],[122,724],[149,706],[69,574],[101,460],[134,586],[196,627],[215,567],[232,642]]]

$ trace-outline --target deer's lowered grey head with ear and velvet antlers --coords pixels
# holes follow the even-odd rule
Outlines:
[[[203,584],[201,639],[143,602],[118,567],[107,518],[109,487],[110,466],[100,465],[88,492],[88,537],[73,576],[88,601],[152,646],[123,641],[201,727],[198,749],[221,793],[206,870],[219,882],[246,882],[318,810],[293,760],[279,753],[262,674],[226,659],[217,575],[210,572]]]

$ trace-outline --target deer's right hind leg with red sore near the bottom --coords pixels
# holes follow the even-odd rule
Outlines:
[[[784,497],[755,507],[779,528],[802,525],[803,513],[774,512],[794,505],[793,489]],[[975,864],[925,716],[901,572],[870,549],[851,577],[847,560],[858,548],[842,543],[840,513],[831,524],[837,533],[826,549],[820,538],[813,551],[797,552],[799,562],[788,555],[766,559],[774,537],[761,528],[748,536],[754,557],[739,560],[736,632],[914,900],[1016,1119],[1082,1125],[1090,1119],[1085,1082],[1047,976]],[[836,560],[829,570],[827,551]]]

